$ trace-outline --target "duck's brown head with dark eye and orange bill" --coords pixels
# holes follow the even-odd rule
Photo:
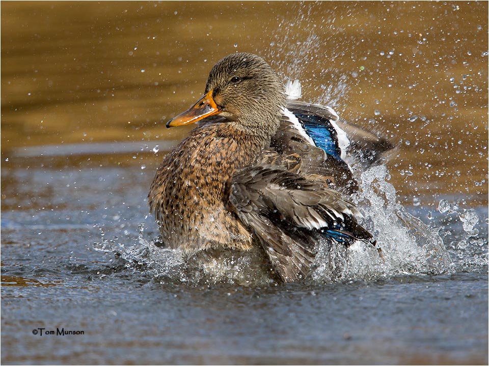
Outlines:
[[[281,80],[265,60],[252,53],[233,53],[214,65],[202,98],[169,120],[167,127],[219,114],[235,128],[269,136],[277,130],[284,106]]]

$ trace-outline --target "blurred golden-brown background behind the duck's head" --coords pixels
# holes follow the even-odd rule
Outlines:
[[[193,104],[219,58],[249,51],[284,80],[300,78],[304,99],[397,143],[388,166],[402,202],[485,205],[487,11],[487,2],[2,2],[2,175],[32,146],[182,139],[190,128],[161,120]]]

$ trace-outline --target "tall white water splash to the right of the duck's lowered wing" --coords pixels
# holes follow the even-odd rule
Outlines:
[[[322,244],[313,271],[316,281],[374,280],[396,275],[437,274],[450,269],[451,259],[437,230],[429,228],[396,202],[385,166],[363,172],[353,197],[366,219],[361,223],[376,246],[357,241],[348,249]]]

